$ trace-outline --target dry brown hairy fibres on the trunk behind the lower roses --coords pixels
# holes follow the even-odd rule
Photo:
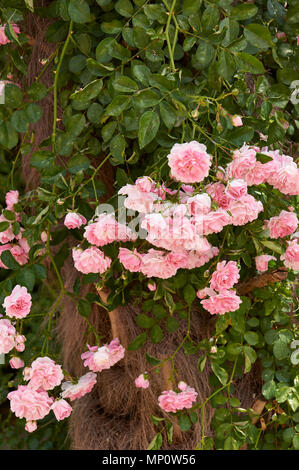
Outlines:
[[[72,268],[68,266],[67,288],[71,288],[76,274],[71,275]],[[85,287],[86,293],[92,288]],[[94,328],[103,337],[103,342],[110,341],[117,333],[121,343],[128,344],[141,333],[136,324],[136,316],[141,313],[138,306],[128,305],[118,307],[111,315],[101,307],[94,306],[89,317]],[[74,403],[71,417],[70,433],[74,449],[103,449],[125,450],[146,449],[158,429],[154,426],[151,415],[167,417],[158,406],[158,396],[163,390],[173,388],[171,381],[171,363],[166,362],[159,373],[150,374],[150,387],[147,390],[136,388],[134,379],[142,372],[148,370],[145,360],[145,350],[148,354],[164,359],[170,357],[177,349],[186,334],[187,325],[182,322],[181,329],[176,333],[166,333],[159,344],[147,343],[138,351],[127,351],[125,358],[109,370],[98,374],[98,381],[93,391]],[[111,327],[112,324],[112,327]],[[62,341],[64,367],[73,375],[82,375],[87,372],[80,358],[86,350],[87,323],[76,309],[70,298],[65,299],[64,310],[59,319],[58,332]],[[207,313],[192,312],[191,336],[195,341],[209,338],[215,329],[214,319]],[[88,341],[93,344],[93,338]],[[175,356],[176,380],[184,380],[194,387],[198,393],[197,403],[201,404],[211,395],[209,384],[210,367],[206,365],[201,373],[197,368],[198,354],[185,355],[181,349]],[[236,396],[241,406],[251,407],[260,394],[259,365],[240,379],[236,379]],[[211,436],[211,419],[213,409],[210,403],[205,406],[204,433]],[[169,416],[168,416],[169,418]],[[164,439],[163,448],[167,449],[194,449],[202,436],[201,415],[191,431],[182,433],[178,425],[174,426],[173,444],[169,446]]]

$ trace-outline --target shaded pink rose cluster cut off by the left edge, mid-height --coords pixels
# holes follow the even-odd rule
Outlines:
[[[15,204],[19,201],[19,192],[18,191],[8,191],[5,196],[6,210],[15,213],[15,220],[20,221],[20,214],[16,213],[14,210]],[[0,215],[0,222],[7,222],[9,224],[6,230],[0,232],[0,255],[3,251],[10,251],[15,260],[22,266],[27,263],[29,258],[30,247],[26,238],[23,236],[24,229],[21,227],[20,232],[15,235],[13,233],[13,222],[8,220],[5,215],[2,213]],[[14,241],[14,243],[12,243]],[[0,259],[0,268],[8,269],[7,266]]]

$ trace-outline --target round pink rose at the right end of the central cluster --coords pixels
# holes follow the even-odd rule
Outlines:
[[[234,199],[229,205],[233,225],[245,225],[258,218],[259,212],[263,210],[263,204],[250,194]]]

